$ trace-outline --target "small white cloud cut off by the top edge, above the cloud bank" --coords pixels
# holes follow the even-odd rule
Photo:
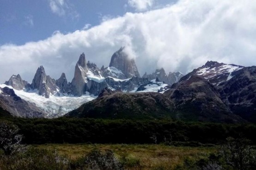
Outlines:
[[[128,0],[128,5],[137,11],[145,11],[153,6],[155,0]]]

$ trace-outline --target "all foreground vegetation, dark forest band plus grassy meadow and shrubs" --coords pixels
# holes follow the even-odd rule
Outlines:
[[[253,124],[5,118],[0,170],[255,170],[255,132]]]

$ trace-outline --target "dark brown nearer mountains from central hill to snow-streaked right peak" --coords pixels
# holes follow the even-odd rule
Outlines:
[[[209,61],[183,76],[163,94],[106,89],[95,100],[65,116],[256,122],[256,66]]]

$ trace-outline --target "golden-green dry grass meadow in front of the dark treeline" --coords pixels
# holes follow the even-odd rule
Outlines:
[[[174,147],[166,145],[128,145],[128,144],[46,144],[34,147],[56,150],[61,155],[77,159],[93,149],[113,150],[117,157],[128,155],[140,162],[139,167],[131,170],[173,170],[182,164],[185,158],[202,159],[209,153],[217,151],[217,147]]]

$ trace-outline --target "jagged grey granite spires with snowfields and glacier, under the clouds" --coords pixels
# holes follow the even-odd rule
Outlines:
[[[71,82],[67,81],[65,73],[59,79],[52,79],[43,66],[36,70],[31,84],[19,74],[12,75],[0,85],[0,108],[21,117],[60,117],[95,99],[106,88],[122,92],[163,93],[182,76],[179,72],[166,75],[161,68],[141,77],[135,60],[125,52],[125,47],[113,53],[109,67],[102,66],[101,69],[95,63],[87,62],[82,53]]]

